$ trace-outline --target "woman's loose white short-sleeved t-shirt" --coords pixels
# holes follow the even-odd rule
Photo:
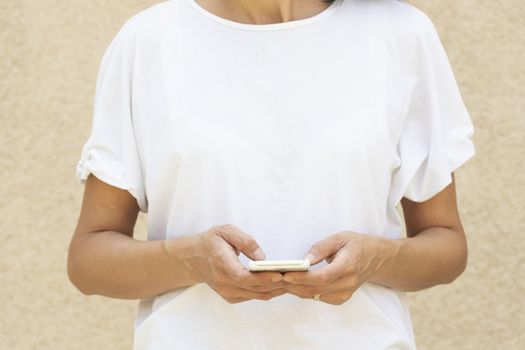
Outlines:
[[[438,33],[400,0],[335,0],[276,24],[164,1],[121,27],[94,102],[82,183],[93,173],[128,190],[149,240],[230,223],[267,259],[301,259],[340,231],[401,238],[400,199],[431,198],[475,154]],[[140,301],[135,350],[246,348],[415,341],[405,293],[368,282],[337,306],[230,304],[205,283]]]

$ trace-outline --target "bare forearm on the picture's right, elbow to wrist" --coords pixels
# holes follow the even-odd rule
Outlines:
[[[445,227],[430,227],[410,238],[382,239],[378,249],[386,258],[369,281],[403,291],[450,283],[467,263],[465,236]]]

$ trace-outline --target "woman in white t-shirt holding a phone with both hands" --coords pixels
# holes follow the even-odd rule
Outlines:
[[[466,265],[472,135],[404,1],[159,3],[102,58],[69,277],[140,299],[136,350],[415,349],[405,293]]]

